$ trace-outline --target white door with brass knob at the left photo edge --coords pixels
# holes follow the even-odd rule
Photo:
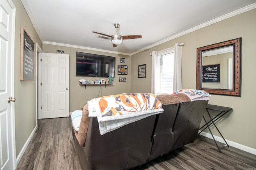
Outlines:
[[[14,137],[14,21],[15,7],[0,0],[0,166],[16,166]],[[9,101],[8,101],[9,98]],[[15,160],[15,161],[14,161]]]

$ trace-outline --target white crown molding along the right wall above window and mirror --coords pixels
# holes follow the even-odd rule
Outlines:
[[[170,40],[173,40],[174,38],[178,38],[178,37],[183,36],[183,35],[185,35],[185,34],[188,34],[188,33],[190,33],[190,32],[199,30],[199,29],[201,29],[201,28],[204,28],[204,27],[209,26],[209,25],[211,25],[211,24],[214,24],[214,23],[216,23],[216,22],[220,22],[220,21],[225,20],[225,19],[227,19],[227,18],[230,18],[230,17],[232,17],[232,16],[236,16],[236,15],[238,15],[238,14],[242,14],[242,13],[247,12],[247,11],[249,11],[249,10],[252,10],[252,9],[254,9],[254,8],[256,8],[256,3],[250,4],[250,5],[248,5],[248,6],[245,6],[245,7],[243,7],[243,8],[240,8],[240,9],[238,9],[238,10],[235,10],[235,11],[233,11],[233,12],[230,12],[230,13],[228,13],[228,14],[225,14],[225,15],[223,15],[223,16],[220,16],[220,17],[218,17],[218,18],[215,18],[215,19],[213,19],[213,20],[210,20],[210,21],[208,21],[208,22],[205,22],[205,23],[203,23],[203,24],[200,24],[200,25],[198,25],[198,26],[195,26],[195,27],[193,27],[193,28],[190,28],[190,29],[188,29],[188,30],[186,30],[186,31],[184,31],[184,32],[180,32],[180,33],[178,33],[178,34],[176,34],[176,35],[174,35],[174,36],[171,36],[171,37],[169,37],[169,38],[166,38],[166,39],[164,39],[164,40],[161,40],[161,41],[159,41],[159,42],[156,42],[156,43],[154,43],[154,44],[152,44],[152,45],[149,45],[149,46],[147,46],[147,47],[144,47],[144,48],[142,48],[142,49],[140,49],[140,50],[138,50],[138,51],[135,51],[134,53],[130,53],[130,55],[134,55],[134,54],[139,53],[139,52],[141,52],[141,51],[144,51],[144,50],[146,50],[146,49],[150,49],[150,48],[152,48],[152,47],[155,47],[156,45],[160,45],[160,44],[162,44],[162,43],[168,42],[168,41],[170,41]]]

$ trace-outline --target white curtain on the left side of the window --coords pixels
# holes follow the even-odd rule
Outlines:
[[[152,51],[152,72],[151,72],[151,93],[156,94],[156,79],[154,77],[157,76],[157,56],[158,53],[156,51]]]

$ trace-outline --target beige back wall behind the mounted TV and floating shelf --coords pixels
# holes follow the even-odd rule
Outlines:
[[[70,112],[81,109],[88,100],[91,100],[95,97],[101,97],[105,95],[119,94],[119,93],[130,93],[130,56],[120,55],[115,53],[106,53],[100,51],[91,51],[86,49],[78,49],[72,47],[64,47],[58,45],[49,45],[43,44],[44,53],[56,53],[56,50],[64,50],[65,54],[69,54],[69,66],[70,66]],[[76,51],[84,53],[94,53],[100,55],[108,55],[116,57],[116,70],[115,77],[113,79],[114,85],[102,86],[92,86],[87,85],[86,89],[83,86],[79,85],[80,79],[91,80],[92,77],[81,77],[76,76]],[[125,63],[120,63],[120,58],[125,58]],[[127,65],[128,66],[128,75],[118,75],[117,74],[117,65]],[[119,82],[119,77],[126,77],[126,82]],[[100,80],[100,77],[95,77],[97,80]],[[102,78],[105,79],[105,78]]]

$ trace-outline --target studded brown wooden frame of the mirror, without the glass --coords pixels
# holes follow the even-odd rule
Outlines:
[[[212,45],[207,45],[204,47],[197,48],[197,69],[196,69],[196,89],[202,89],[210,94],[218,94],[218,95],[232,95],[232,96],[241,96],[241,66],[242,66],[242,38],[237,38],[234,40],[229,40],[226,42],[215,43]],[[202,71],[203,64],[202,54],[206,51],[220,49],[223,47],[233,47],[233,83],[232,89],[217,89],[217,88],[206,88],[202,87]]]

